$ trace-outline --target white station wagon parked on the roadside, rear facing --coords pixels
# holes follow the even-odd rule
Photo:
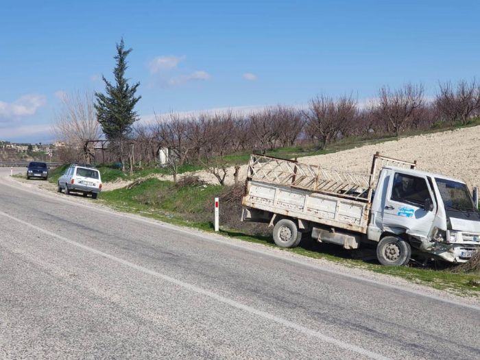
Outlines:
[[[69,195],[71,191],[83,193],[84,197],[91,194],[96,199],[101,191],[100,172],[91,165],[72,164],[58,178],[59,193],[64,190],[65,195]]]

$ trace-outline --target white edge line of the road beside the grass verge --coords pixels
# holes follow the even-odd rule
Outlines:
[[[105,213],[105,214],[108,214],[110,216],[126,217],[128,219],[133,220],[133,221],[143,222],[145,224],[150,224],[150,225],[153,225],[153,226],[157,226],[157,227],[162,228],[162,229],[168,229],[168,230],[173,230],[173,231],[176,231],[176,232],[182,232],[184,234],[191,235],[191,236],[194,236],[194,237],[197,237],[197,238],[200,238],[200,239],[204,239],[206,241],[219,243],[221,245],[228,245],[232,248],[237,248],[239,250],[248,251],[248,252],[254,252],[256,254],[262,254],[262,255],[265,255],[265,256],[272,257],[274,259],[280,259],[282,261],[288,261],[290,263],[294,263],[294,264],[301,265],[301,266],[304,266],[304,267],[309,267],[311,269],[315,269],[315,270],[320,271],[320,272],[326,272],[327,274],[333,274],[333,275],[336,275],[336,276],[343,276],[344,278],[350,278],[350,279],[353,279],[353,280],[361,281],[362,283],[377,285],[377,286],[384,287],[384,288],[387,288],[387,289],[395,289],[395,290],[398,290],[398,291],[405,291],[406,293],[411,293],[411,294],[416,295],[416,296],[422,296],[424,298],[429,298],[429,299],[432,299],[432,300],[445,302],[446,304],[455,305],[457,307],[464,307],[464,308],[467,308],[467,309],[473,309],[473,310],[476,310],[476,311],[480,311],[479,306],[474,305],[474,304],[466,304],[464,302],[461,302],[461,300],[462,300],[461,298],[459,298],[458,300],[451,300],[451,299],[447,299],[447,298],[442,298],[440,296],[432,295],[432,294],[429,294],[429,293],[423,293],[422,291],[419,291],[419,290],[416,290],[416,289],[407,289],[407,288],[402,287],[400,285],[387,284],[387,283],[383,283],[379,280],[372,280],[372,279],[365,278],[365,277],[359,276],[359,275],[345,274],[344,272],[339,272],[339,271],[336,271],[335,269],[325,269],[324,267],[322,267],[320,265],[307,263],[306,261],[303,261],[302,259],[293,259],[291,257],[283,256],[282,254],[274,254],[274,253],[272,253],[272,250],[270,250],[268,248],[265,248],[265,250],[264,250],[264,249],[247,247],[247,246],[245,246],[243,241],[240,241],[239,243],[233,243],[232,241],[235,241],[234,239],[230,239],[228,237],[222,237],[221,235],[217,235],[217,234],[208,234],[207,235],[207,234],[203,234],[200,231],[190,230],[188,228],[182,228],[180,226],[167,224],[167,223],[164,223],[163,221],[160,221],[160,220],[148,219],[146,217],[140,217],[138,215],[132,215],[132,214],[128,214],[128,213],[120,213],[118,211],[113,210],[112,208],[107,210],[107,209],[104,209],[104,208],[99,208],[98,206],[93,206],[91,204],[82,204],[82,203],[79,203],[79,202],[76,202],[76,201],[73,201],[73,200],[62,199],[62,198],[58,197],[58,195],[54,195],[54,194],[51,194],[51,193],[38,193],[38,191],[34,191],[34,190],[31,190],[31,189],[25,189],[25,187],[22,186],[23,185],[22,183],[16,182],[15,180],[13,180],[11,178],[3,178],[3,180],[13,182],[13,184],[4,183],[8,187],[12,187],[14,189],[24,191],[25,193],[33,193],[33,194],[36,194],[40,197],[47,197],[49,200],[57,200],[58,202],[64,202],[64,203],[69,204],[69,205],[80,206],[82,208],[87,208],[88,210],[98,211],[99,213]],[[292,255],[293,253],[289,253],[289,254]]]

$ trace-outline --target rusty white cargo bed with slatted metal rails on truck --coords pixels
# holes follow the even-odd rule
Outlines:
[[[256,220],[265,221],[278,214],[365,234],[373,189],[385,165],[416,167],[416,163],[379,153],[373,157],[370,172],[365,173],[253,154],[242,204],[256,211],[244,212],[243,219],[261,215]]]

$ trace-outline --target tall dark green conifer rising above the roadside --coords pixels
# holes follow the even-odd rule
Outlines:
[[[110,83],[102,75],[106,94],[95,93],[97,120],[110,144],[119,147],[123,171],[125,171],[123,143],[132,132],[133,123],[139,120],[134,107],[141,99],[141,96],[135,97],[136,89],[140,83],[137,82],[130,86],[128,79],[125,78],[125,70],[128,68],[125,59],[131,51],[132,49],[125,50],[122,38],[120,44],[117,44],[117,55],[114,57],[116,60],[115,69],[113,69],[115,84]]]

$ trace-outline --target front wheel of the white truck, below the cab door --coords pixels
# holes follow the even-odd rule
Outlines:
[[[401,237],[387,236],[376,245],[376,259],[382,265],[402,266],[410,261],[411,247]]]

